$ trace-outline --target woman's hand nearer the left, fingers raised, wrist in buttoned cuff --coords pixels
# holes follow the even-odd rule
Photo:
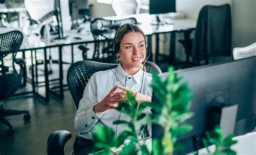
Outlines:
[[[114,86],[114,88],[109,92],[109,94],[105,98],[103,98],[102,101],[95,104],[95,106],[93,107],[93,111],[96,114],[99,114],[100,112],[104,112],[108,109],[116,109],[116,107],[113,106],[113,104],[120,103],[121,99],[124,98],[123,95],[114,93],[114,91],[116,91],[117,88],[118,88],[118,85]]]

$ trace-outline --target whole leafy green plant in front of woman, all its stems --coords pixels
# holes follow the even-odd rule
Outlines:
[[[173,151],[183,149],[183,146],[177,144],[177,139],[180,134],[188,132],[192,129],[191,125],[185,124],[185,120],[192,117],[192,113],[188,112],[190,107],[190,100],[192,98],[191,91],[188,89],[186,82],[181,82],[181,78],[177,78],[173,72],[173,68],[169,68],[169,76],[165,82],[162,82],[157,73],[153,73],[152,89],[155,96],[160,99],[161,105],[157,103],[143,102],[138,104],[135,100],[136,96],[132,96],[127,92],[127,99],[118,104],[117,110],[128,114],[131,122],[125,120],[117,120],[114,124],[124,124],[125,130],[117,136],[111,129],[100,126],[95,126],[95,139],[96,146],[103,148],[103,154],[113,154],[111,147],[120,147],[124,144],[125,139],[130,142],[123,146],[120,154],[150,154],[146,145],[138,143],[138,136],[135,131],[135,123],[143,119],[146,113],[143,112],[145,107],[151,107],[159,113],[153,116],[153,119],[147,120],[145,123],[157,123],[164,128],[163,140],[161,140],[162,147],[156,139],[152,140],[151,154],[170,154]],[[138,108],[137,112],[136,109]],[[143,129],[144,126],[140,128]]]

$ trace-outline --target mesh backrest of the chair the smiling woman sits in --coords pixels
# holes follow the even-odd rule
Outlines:
[[[82,60],[72,64],[68,70],[67,82],[69,86],[70,93],[75,101],[76,107],[78,109],[79,101],[83,97],[84,89],[93,73],[98,71],[104,71],[116,68],[118,64],[107,64],[92,62],[89,60]],[[152,63],[146,62],[145,68],[147,72],[157,72],[161,73],[159,67]]]

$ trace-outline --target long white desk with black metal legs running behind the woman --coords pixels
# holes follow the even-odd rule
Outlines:
[[[137,19],[137,22],[140,23],[139,26],[144,31],[145,35],[152,36],[156,35],[156,63],[158,63],[158,55],[159,55],[159,34],[160,33],[172,33],[171,35],[171,48],[170,55],[168,56],[170,62],[175,57],[175,33],[180,30],[185,30],[189,28],[194,28],[196,26],[196,21],[194,19],[173,19],[173,24],[165,24],[165,25],[151,25],[151,19],[155,17],[149,14],[137,14],[137,15],[127,15],[127,16],[113,16],[113,17],[105,17],[106,19],[117,20],[123,18],[134,17]],[[43,98],[46,102],[49,102],[49,93],[57,95],[60,98],[63,98],[63,71],[62,71],[62,47],[71,45],[71,55],[72,55],[72,63],[73,63],[73,45],[76,44],[84,44],[84,43],[93,43],[94,38],[90,30],[90,22],[86,22],[80,25],[81,28],[84,28],[82,32],[77,33],[77,30],[71,30],[69,32],[69,36],[66,39],[56,39],[49,42],[43,42],[39,36],[30,36],[28,37],[28,43],[25,43],[21,46],[20,51],[23,52],[23,56],[25,57],[25,51],[31,51],[31,61],[32,61],[32,92],[37,96]],[[74,37],[80,37],[81,39],[75,39]],[[151,39],[150,39],[151,40]],[[50,48],[58,48],[59,49],[59,94],[50,90],[49,87],[49,72],[47,69],[48,61],[47,61],[47,52],[46,49]],[[44,77],[45,77],[45,97],[39,95],[38,92],[35,91],[35,79],[33,68],[36,64],[33,64],[33,55],[36,57],[36,50],[43,49],[44,50]],[[35,51],[35,53],[33,53]]]

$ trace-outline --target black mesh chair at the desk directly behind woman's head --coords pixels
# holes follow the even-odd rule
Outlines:
[[[113,38],[117,29],[126,23],[137,24],[136,18],[125,18],[116,21],[103,18],[95,18],[91,21],[91,32],[95,39],[95,52],[92,60],[110,63],[115,55],[112,55]]]

